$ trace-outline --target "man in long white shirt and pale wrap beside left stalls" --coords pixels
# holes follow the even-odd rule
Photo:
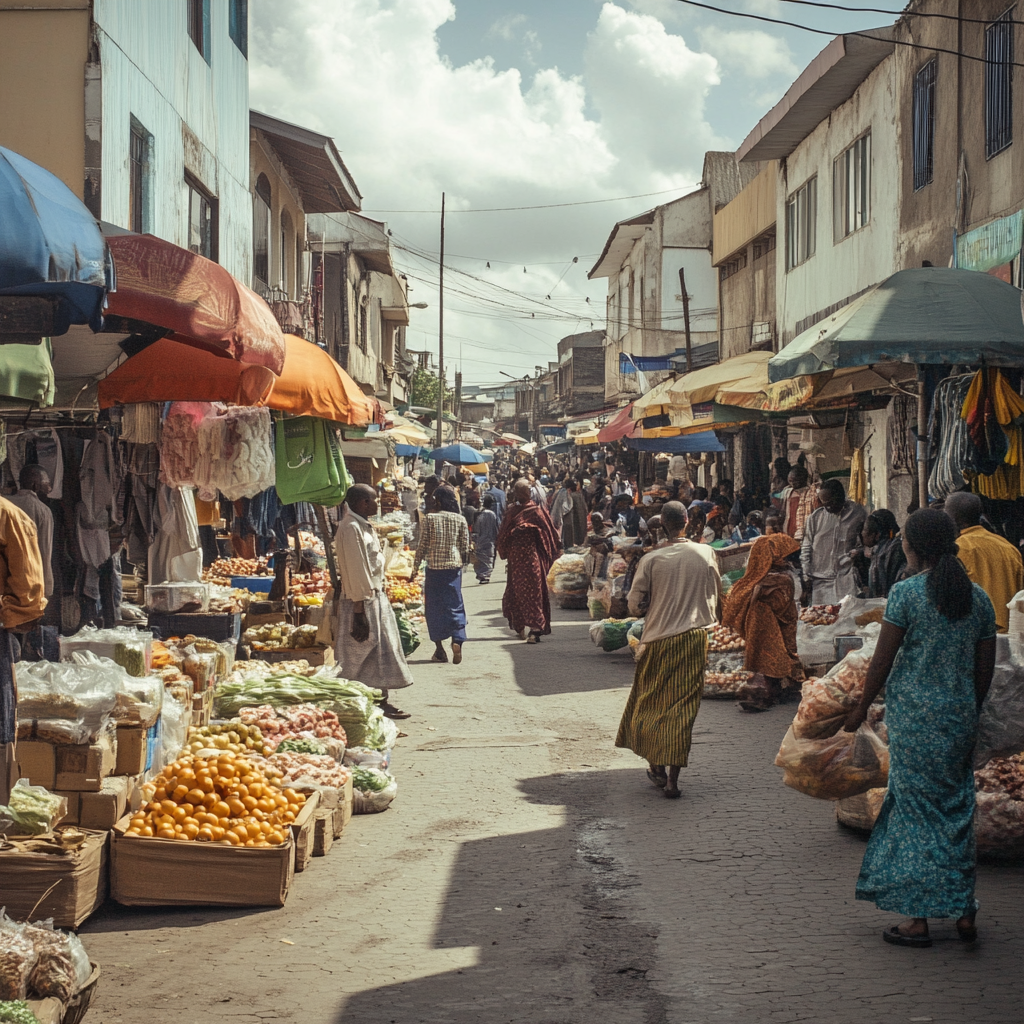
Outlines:
[[[384,553],[368,521],[376,514],[374,488],[366,483],[349,487],[334,537],[341,575],[335,657],[348,679],[383,691],[381,709],[388,718],[409,718],[388,698],[389,690],[412,686],[413,676],[384,593]]]

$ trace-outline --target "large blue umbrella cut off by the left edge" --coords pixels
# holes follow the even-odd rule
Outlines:
[[[58,178],[0,146],[0,295],[59,299],[52,334],[103,326],[114,262],[99,225]]]

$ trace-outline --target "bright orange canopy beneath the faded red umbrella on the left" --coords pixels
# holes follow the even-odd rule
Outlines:
[[[274,379],[264,367],[163,338],[99,382],[99,408],[140,401],[224,401],[265,404],[348,426],[383,422],[377,399],[367,397],[322,348],[293,335],[285,336],[285,368]]]

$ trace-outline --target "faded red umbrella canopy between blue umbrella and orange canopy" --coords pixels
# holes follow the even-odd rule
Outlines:
[[[281,373],[285,336],[270,307],[222,266],[152,234],[112,234],[106,244],[117,271],[108,313]]]

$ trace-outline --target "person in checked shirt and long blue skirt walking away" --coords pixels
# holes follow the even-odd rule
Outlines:
[[[466,642],[466,605],[462,600],[462,567],[469,561],[469,527],[459,511],[459,499],[446,485],[434,492],[436,511],[423,523],[420,546],[416,550],[416,572],[423,561],[423,603],[427,631],[434,642],[432,662],[446,662],[445,640],[452,641],[452,660],[462,662]]]

